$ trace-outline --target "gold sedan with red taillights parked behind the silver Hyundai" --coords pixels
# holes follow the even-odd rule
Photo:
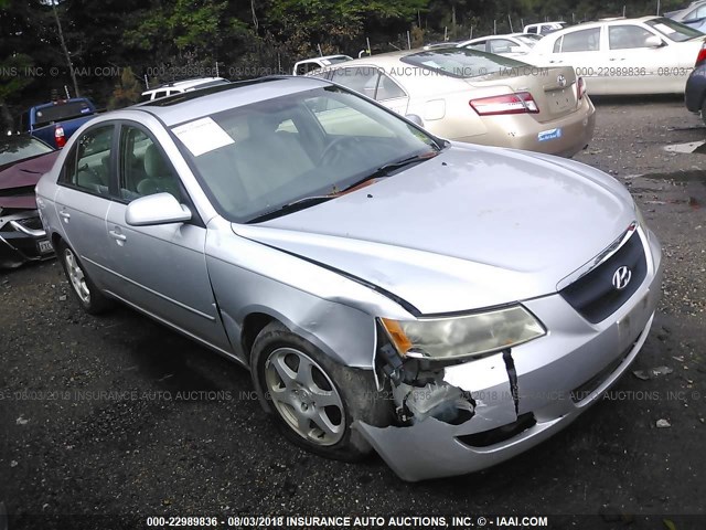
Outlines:
[[[450,140],[570,157],[596,109],[570,66],[538,67],[466,49],[386,53],[313,75],[354,89]]]

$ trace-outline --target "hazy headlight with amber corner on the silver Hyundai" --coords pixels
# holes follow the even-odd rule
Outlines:
[[[546,335],[524,307],[511,306],[462,317],[381,322],[400,356],[458,359],[512,348]]]

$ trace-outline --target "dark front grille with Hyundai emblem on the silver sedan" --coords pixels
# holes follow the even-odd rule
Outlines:
[[[630,283],[622,290],[613,287],[613,274],[627,266]],[[612,256],[559,292],[579,315],[589,322],[605,320],[630,298],[648,274],[642,240],[637,230]]]

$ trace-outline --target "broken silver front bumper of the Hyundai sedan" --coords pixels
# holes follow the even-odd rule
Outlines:
[[[588,322],[558,294],[524,303],[548,333],[509,353],[515,391],[507,359],[498,353],[445,369],[443,382],[470,395],[470,420],[427,416],[407,426],[353,427],[400,478],[416,481],[484,469],[567,426],[628,370],[649,335],[663,265],[654,234],[642,234],[648,274],[603,321]]]

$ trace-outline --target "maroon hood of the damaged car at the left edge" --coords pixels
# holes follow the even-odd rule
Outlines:
[[[58,152],[52,151],[0,167],[0,208],[35,209],[34,187],[42,174],[52,169]]]

